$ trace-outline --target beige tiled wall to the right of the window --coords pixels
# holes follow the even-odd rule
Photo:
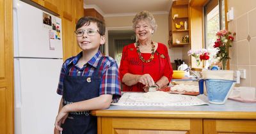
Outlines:
[[[256,87],[256,1],[229,0],[228,9],[234,8],[234,20],[228,23],[236,32],[230,48],[230,70],[245,69],[246,78],[239,86]]]

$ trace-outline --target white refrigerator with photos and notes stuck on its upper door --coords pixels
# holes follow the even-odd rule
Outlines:
[[[61,19],[13,1],[15,134],[53,133],[63,49]]]

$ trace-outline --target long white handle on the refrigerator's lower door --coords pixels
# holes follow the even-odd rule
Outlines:
[[[20,62],[17,58],[14,58],[14,83],[15,108],[20,108],[22,105],[20,89]]]

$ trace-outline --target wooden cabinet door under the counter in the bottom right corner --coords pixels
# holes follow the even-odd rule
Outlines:
[[[204,119],[205,134],[256,133],[256,120]]]

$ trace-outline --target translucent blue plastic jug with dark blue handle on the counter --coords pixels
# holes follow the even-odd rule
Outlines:
[[[214,104],[224,104],[230,94],[231,89],[236,84],[234,80],[202,79],[199,81],[200,93],[204,93],[204,81],[208,100]]]

